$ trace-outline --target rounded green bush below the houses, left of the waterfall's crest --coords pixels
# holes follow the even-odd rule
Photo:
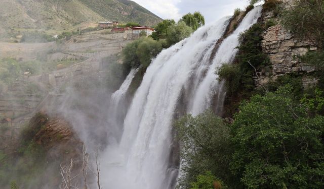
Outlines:
[[[164,47],[164,40],[155,41],[152,38],[141,37],[132,43],[128,43],[123,49],[124,64],[128,68],[137,68],[140,65],[148,67],[154,58]]]

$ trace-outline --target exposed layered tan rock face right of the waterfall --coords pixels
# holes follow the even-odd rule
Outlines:
[[[271,12],[263,13],[262,22],[265,23],[270,19],[274,19]],[[307,74],[314,72],[315,68],[305,64],[299,58],[308,50],[317,50],[316,47],[310,44],[309,41],[295,37],[280,24],[269,27],[263,33],[261,46],[268,55],[270,64],[260,70],[258,73],[259,77],[254,78],[256,86],[266,84],[281,75],[289,73],[302,75],[305,86],[314,84],[316,79],[307,79],[309,77]]]

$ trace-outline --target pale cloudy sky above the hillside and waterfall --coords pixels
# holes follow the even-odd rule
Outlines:
[[[163,19],[178,21],[182,15],[199,11],[206,23],[233,15],[235,8],[244,9],[248,0],[133,0]]]

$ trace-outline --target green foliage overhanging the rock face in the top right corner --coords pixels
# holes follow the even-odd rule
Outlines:
[[[324,48],[323,1],[298,0],[281,13],[281,23],[296,36],[313,40],[313,45]]]

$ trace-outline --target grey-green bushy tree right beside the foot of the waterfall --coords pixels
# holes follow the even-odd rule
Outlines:
[[[185,115],[175,122],[175,128],[183,143],[181,158],[186,162],[182,166],[184,176],[179,181],[180,186],[190,188],[190,183],[198,184],[201,180],[197,180],[197,176],[206,171],[226,181],[231,179],[228,170],[229,128],[220,117],[211,110],[196,117]],[[205,179],[205,176],[198,179]]]

